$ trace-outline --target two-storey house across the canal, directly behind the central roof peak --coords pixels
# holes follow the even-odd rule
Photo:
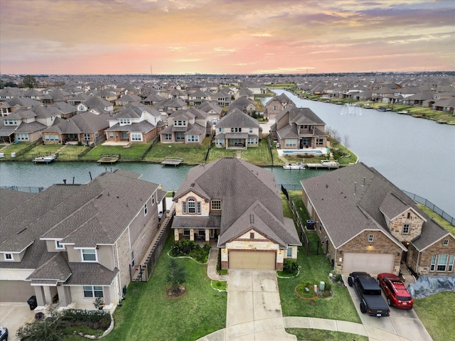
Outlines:
[[[218,121],[215,129],[215,146],[226,149],[257,147],[262,139],[262,128],[252,117],[233,109]]]

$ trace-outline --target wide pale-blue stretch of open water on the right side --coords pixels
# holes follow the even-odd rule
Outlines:
[[[360,161],[375,168],[401,190],[417,194],[455,217],[455,126],[396,112],[299,99],[313,110]],[[269,98],[262,99],[267,102]]]

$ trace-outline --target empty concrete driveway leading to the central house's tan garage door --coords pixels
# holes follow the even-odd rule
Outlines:
[[[276,271],[229,270],[224,340],[297,340],[284,331]]]

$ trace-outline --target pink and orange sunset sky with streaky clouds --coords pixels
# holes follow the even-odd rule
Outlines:
[[[455,70],[455,0],[0,0],[2,74]]]

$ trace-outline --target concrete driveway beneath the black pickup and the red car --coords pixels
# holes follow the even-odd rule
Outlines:
[[[373,276],[373,275],[372,275]],[[348,283],[348,275],[343,275],[344,283]],[[389,332],[387,340],[390,341],[432,341],[432,337],[425,329],[424,325],[418,318],[414,309],[402,310],[390,307],[390,316],[385,318],[375,318],[368,314],[360,312],[360,301],[353,287],[347,286],[350,297],[357,309],[360,320],[367,331],[370,340],[383,340],[382,331]],[[384,296],[384,293],[382,293]],[[395,334],[395,335],[392,335]]]

